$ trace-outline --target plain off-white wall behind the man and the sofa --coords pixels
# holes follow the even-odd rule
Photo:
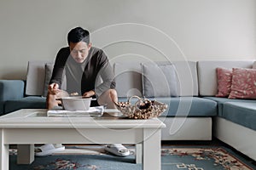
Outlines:
[[[256,59],[255,0],[0,0],[0,79],[54,61],[82,26],[113,61]]]

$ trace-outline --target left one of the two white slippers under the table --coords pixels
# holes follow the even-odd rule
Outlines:
[[[55,148],[53,144],[44,144],[36,148],[35,156],[49,156],[55,152],[65,150],[65,146]]]

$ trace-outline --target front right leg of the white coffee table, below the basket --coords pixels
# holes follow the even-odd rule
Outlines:
[[[160,129],[143,130],[143,170],[160,170]]]

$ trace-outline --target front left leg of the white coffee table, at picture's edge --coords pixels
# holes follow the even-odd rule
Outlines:
[[[4,144],[4,130],[0,129],[0,170],[9,169],[9,144]]]

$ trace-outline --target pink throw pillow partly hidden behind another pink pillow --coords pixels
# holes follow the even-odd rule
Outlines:
[[[217,68],[216,69],[218,78],[218,94],[216,97],[228,97],[231,92],[232,83],[232,69]]]

